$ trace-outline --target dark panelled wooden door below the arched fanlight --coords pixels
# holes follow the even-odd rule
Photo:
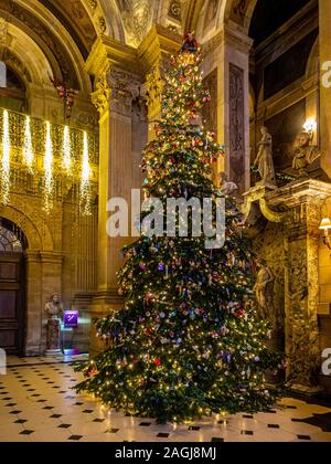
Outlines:
[[[24,337],[22,253],[0,253],[0,348],[20,355]]]

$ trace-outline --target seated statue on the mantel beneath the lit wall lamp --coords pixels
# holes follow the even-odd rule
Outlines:
[[[308,176],[309,166],[321,156],[318,147],[311,145],[311,140],[312,134],[307,130],[302,130],[296,140],[292,168],[303,177]]]

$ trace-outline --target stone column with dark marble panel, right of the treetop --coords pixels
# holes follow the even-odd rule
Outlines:
[[[244,193],[250,187],[249,50],[253,41],[231,25],[203,45],[205,73],[217,68],[217,134],[225,145],[225,170]]]

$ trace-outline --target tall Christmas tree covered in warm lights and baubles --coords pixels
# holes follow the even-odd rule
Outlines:
[[[223,148],[199,124],[210,101],[200,64],[200,50],[188,35],[166,78],[157,139],[143,151],[146,198],[159,198],[164,209],[168,198],[211,198],[214,205],[224,199],[211,181]],[[173,236],[142,233],[125,249],[124,309],[96,321],[109,348],[77,367],[85,373],[77,391],[160,423],[275,403],[279,391],[267,388],[265,372],[277,370],[281,357],[268,350],[270,327],[254,310],[241,212],[235,199],[225,204],[222,247],[206,247],[204,234],[182,236],[178,217]],[[193,211],[189,217],[192,225]],[[215,209],[212,218],[215,225]]]

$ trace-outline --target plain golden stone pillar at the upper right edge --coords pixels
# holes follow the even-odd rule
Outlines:
[[[319,0],[319,44],[320,44],[320,138],[321,149],[323,151],[321,159],[322,169],[331,177],[331,78],[324,78],[324,74],[329,70],[331,62],[331,2],[329,0]],[[323,70],[324,63],[329,62],[329,66]],[[327,82],[325,82],[327,81]],[[327,85],[325,85],[327,84]]]

